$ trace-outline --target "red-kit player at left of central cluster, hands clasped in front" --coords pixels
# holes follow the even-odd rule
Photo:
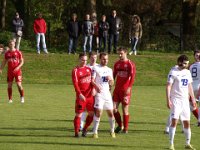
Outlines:
[[[87,65],[87,55],[79,54],[79,65],[72,71],[72,81],[74,89],[76,91],[76,104],[75,104],[75,118],[74,118],[74,130],[75,137],[79,137],[79,128],[82,113],[87,110],[88,116],[86,123],[82,131],[82,136],[87,134],[87,128],[93,121],[94,115],[94,97],[92,95],[92,76],[91,68]]]

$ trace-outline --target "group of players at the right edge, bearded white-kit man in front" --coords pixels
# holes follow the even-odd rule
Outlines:
[[[165,133],[169,134],[170,150],[174,148],[174,136],[176,126],[180,119],[183,124],[185,134],[185,149],[195,148],[190,144],[190,111],[198,119],[200,126],[200,111],[196,101],[200,98],[200,51],[194,51],[195,63],[189,66],[189,59],[186,55],[181,55],[177,59],[169,74],[166,86],[167,107],[171,110],[167,121]],[[189,70],[188,70],[189,67]]]

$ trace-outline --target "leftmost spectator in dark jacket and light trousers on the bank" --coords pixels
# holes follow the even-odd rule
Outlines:
[[[16,42],[15,44],[16,49],[19,50],[22,33],[23,33],[24,21],[20,18],[18,12],[15,13],[15,17],[12,20],[12,25],[13,25],[13,39]]]

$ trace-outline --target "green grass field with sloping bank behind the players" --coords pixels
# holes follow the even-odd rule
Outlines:
[[[24,51],[23,85],[25,103],[19,101],[14,85],[13,103],[7,102],[6,68],[0,76],[0,150],[162,150],[168,148],[163,134],[169,114],[165,100],[165,83],[169,69],[179,54],[140,52],[130,56],[137,67],[130,106],[130,127],[127,135],[116,139],[109,135],[106,113],[100,123],[99,139],[91,135],[74,138],[73,118],[75,92],[71,70],[77,55],[37,55]],[[192,53],[188,53],[192,59]],[[112,67],[117,55],[109,56]],[[0,57],[2,60],[2,56]],[[192,116],[192,144],[200,149],[199,128]],[[184,149],[184,135],[177,128],[175,148]]]

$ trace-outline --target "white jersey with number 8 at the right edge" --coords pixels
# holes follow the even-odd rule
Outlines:
[[[193,79],[193,90],[197,91],[200,87],[200,62],[195,62],[190,66],[190,72]]]

